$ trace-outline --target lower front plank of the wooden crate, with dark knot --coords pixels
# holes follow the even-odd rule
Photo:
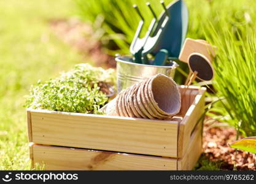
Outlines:
[[[177,159],[80,148],[33,145],[34,163],[45,170],[176,170]]]

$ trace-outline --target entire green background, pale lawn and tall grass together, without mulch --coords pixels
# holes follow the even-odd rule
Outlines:
[[[145,0],[0,1],[0,169],[30,169],[23,107],[29,87],[56,77],[76,63],[94,63],[87,52],[63,42],[50,23],[77,18],[91,26],[93,37],[109,55],[127,54]],[[159,1],[149,1],[158,13]],[[171,1],[166,1],[168,4]],[[256,1],[187,0],[187,37],[206,39],[218,47],[214,61],[216,102],[208,115],[235,126],[244,136],[256,135]],[[151,18],[147,16],[147,23]],[[145,26],[146,27],[146,26]],[[187,66],[181,64],[187,71]],[[176,74],[182,83],[184,75]]]

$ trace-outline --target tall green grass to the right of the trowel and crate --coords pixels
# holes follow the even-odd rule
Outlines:
[[[255,136],[256,1],[232,2],[204,2],[191,16],[201,25],[200,34],[218,48],[213,82],[223,101],[212,110],[243,136]]]

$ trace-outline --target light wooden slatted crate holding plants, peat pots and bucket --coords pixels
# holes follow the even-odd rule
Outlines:
[[[201,154],[204,92],[190,86],[169,120],[28,109],[31,159],[59,170],[192,169]]]

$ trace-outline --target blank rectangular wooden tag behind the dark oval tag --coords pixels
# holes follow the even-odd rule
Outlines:
[[[191,53],[201,53],[206,56],[210,62],[212,62],[212,58],[215,57],[215,51],[217,48],[208,44],[204,40],[194,40],[187,38],[185,39],[184,45],[179,55],[179,60],[185,63],[188,63],[188,56]]]

